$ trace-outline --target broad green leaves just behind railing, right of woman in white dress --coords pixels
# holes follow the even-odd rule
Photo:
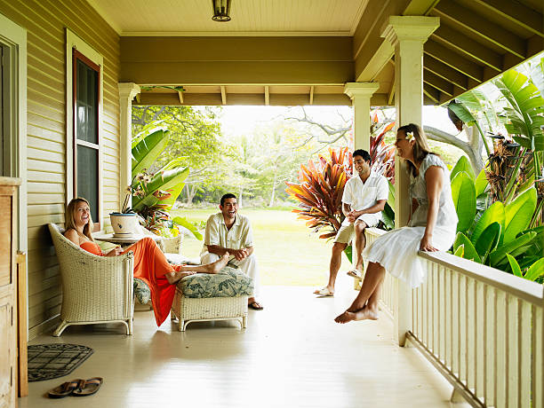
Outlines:
[[[453,254],[525,279],[541,279],[544,226],[531,228],[537,192],[527,188],[508,204],[495,201],[478,209],[488,183],[484,170],[475,177],[463,156],[451,172],[452,199],[459,217]]]

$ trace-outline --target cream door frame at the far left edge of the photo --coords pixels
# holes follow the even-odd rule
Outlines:
[[[10,112],[4,116],[10,133],[16,140],[9,143],[10,162],[6,176],[19,177],[21,184],[18,193],[18,249],[28,250],[28,209],[27,209],[27,30],[0,14],[0,43],[7,51],[10,66],[9,86]],[[13,142],[13,143],[12,143]],[[5,157],[5,154],[4,154]]]

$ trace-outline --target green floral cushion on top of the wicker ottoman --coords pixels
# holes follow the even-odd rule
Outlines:
[[[240,297],[253,294],[253,281],[239,269],[225,266],[220,273],[196,273],[180,280],[185,297]]]

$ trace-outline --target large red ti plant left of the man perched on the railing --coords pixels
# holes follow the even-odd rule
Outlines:
[[[300,165],[300,184],[286,182],[285,191],[299,201],[293,212],[315,232],[325,229],[319,238],[329,239],[336,235],[345,216],[341,211],[344,185],[351,177],[353,158],[348,147],[338,150],[329,148],[331,159],[319,156],[319,160]]]

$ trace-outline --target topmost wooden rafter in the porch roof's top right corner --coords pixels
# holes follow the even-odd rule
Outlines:
[[[501,17],[523,27],[534,35],[544,37],[542,32],[542,13],[513,0],[472,0],[487,12],[494,12]]]

